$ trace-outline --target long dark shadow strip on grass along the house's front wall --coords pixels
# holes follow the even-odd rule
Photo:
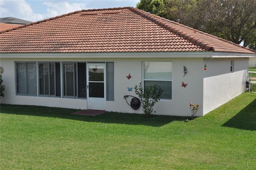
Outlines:
[[[85,122],[100,122],[100,123],[114,123],[114,124],[130,124],[130,125],[144,125],[144,126],[163,126],[172,121],[185,121],[189,117],[181,116],[159,116],[152,115],[150,118],[145,118],[143,114],[129,114],[118,112],[106,112],[97,116],[86,116],[71,114],[76,112],[76,109],[67,108],[52,108],[44,106],[27,106],[27,105],[9,105],[1,104],[1,113],[54,117],[71,120],[79,120]]]

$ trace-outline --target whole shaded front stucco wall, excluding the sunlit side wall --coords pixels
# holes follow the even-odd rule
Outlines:
[[[74,57],[74,56],[72,56]],[[161,55],[154,57],[129,56],[129,58],[118,56],[109,56],[101,58],[94,56],[93,58],[82,56],[72,58],[71,56],[51,57],[47,58],[1,58],[1,66],[4,67],[4,91],[5,97],[1,99],[4,104],[27,104],[38,106],[52,106],[63,108],[86,109],[87,100],[83,99],[67,99],[67,98],[47,98],[47,97],[32,97],[32,96],[16,96],[15,94],[15,61],[38,61],[38,62],[114,62],[114,101],[106,101],[106,110],[115,112],[127,113],[142,113],[142,107],[138,110],[133,110],[125,101],[124,95],[134,94],[134,86],[142,81],[142,61],[172,61],[172,100],[160,100],[154,108],[155,114],[161,115],[179,115],[190,116],[191,112],[188,108],[190,102],[203,104],[203,58],[168,58]],[[180,56],[177,56],[180,57]],[[72,59],[71,59],[72,58]],[[183,66],[186,66],[188,73],[183,77]],[[132,78],[128,80],[126,76],[131,74]],[[182,87],[182,82],[188,84],[186,88]],[[132,92],[128,91],[127,87],[133,87]],[[128,98],[130,102],[131,98]],[[203,109],[199,110],[197,116],[202,116]]]

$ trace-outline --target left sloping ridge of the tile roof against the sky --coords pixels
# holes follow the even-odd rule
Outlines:
[[[88,9],[88,10],[79,10],[79,11],[69,12],[69,13],[67,13],[67,14],[62,14],[62,15],[59,15],[59,16],[55,16],[55,17],[51,17],[51,18],[44,19],[44,20],[39,20],[39,21],[36,21],[36,22],[31,22],[31,23],[29,23],[29,24],[21,25],[21,26],[18,26],[18,27],[16,27],[16,28],[12,28],[12,29],[8,29],[8,30],[0,31],[0,34],[1,34],[1,33],[4,33],[4,32],[9,32],[9,31],[12,31],[12,30],[17,30],[17,29],[19,29],[19,28],[23,28],[23,27],[26,27],[26,26],[38,24],[38,23],[41,23],[41,22],[46,22],[46,21],[48,21],[48,20],[54,20],[54,19],[56,19],[56,18],[61,18],[61,17],[64,17],[64,16],[69,16],[69,15],[72,15],[72,14],[77,14],[77,13],[80,13],[80,12],[103,11],[103,10],[121,10],[121,9],[127,9],[127,8],[130,8],[130,7]]]

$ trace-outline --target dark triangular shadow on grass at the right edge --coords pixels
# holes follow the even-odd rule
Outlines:
[[[256,99],[222,126],[243,130],[256,130]]]

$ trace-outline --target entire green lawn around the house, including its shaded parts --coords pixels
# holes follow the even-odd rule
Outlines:
[[[1,169],[254,169],[255,106],[256,94],[246,92],[186,121],[1,104]]]

